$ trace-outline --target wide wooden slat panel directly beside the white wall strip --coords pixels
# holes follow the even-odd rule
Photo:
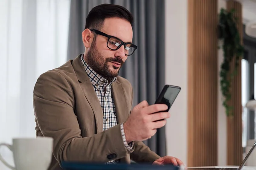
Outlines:
[[[217,0],[188,0],[188,167],[217,165]]]

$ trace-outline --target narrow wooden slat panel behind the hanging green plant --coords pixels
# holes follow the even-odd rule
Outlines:
[[[238,17],[238,29],[243,40],[242,6],[241,3],[227,1],[227,10],[235,9],[235,16]],[[234,67],[232,68],[234,69]],[[241,106],[241,59],[239,62],[238,74],[231,84],[231,105],[234,106],[234,116],[227,119],[227,164],[240,165],[242,161],[242,106]]]

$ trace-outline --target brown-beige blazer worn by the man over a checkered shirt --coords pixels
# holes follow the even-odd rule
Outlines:
[[[61,170],[61,161],[120,159],[130,164],[130,159],[152,163],[160,158],[143,142],[135,141],[132,152],[123,144],[120,123],[126,121],[132,109],[133,91],[130,82],[122,77],[117,77],[111,89],[118,125],[102,131],[102,108],[80,55],[42,74],[35,84],[36,136],[54,139],[49,170]]]

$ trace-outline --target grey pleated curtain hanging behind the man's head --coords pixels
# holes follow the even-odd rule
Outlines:
[[[138,48],[125,61],[119,75],[128,79],[134,88],[133,105],[143,100],[154,104],[165,84],[164,0],[72,0],[67,59],[84,52],[81,32],[86,16],[94,6],[102,3],[124,6],[134,15],[133,42]],[[158,155],[165,156],[165,127],[144,143]]]

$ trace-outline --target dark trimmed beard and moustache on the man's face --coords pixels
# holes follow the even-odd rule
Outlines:
[[[102,77],[105,77],[106,79],[113,79],[114,77],[117,77],[119,74],[119,70],[124,63],[119,57],[104,57],[102,53],[100,53],[96,49],[95,40],[93,40],[92,45],[84,59],[94,71],[96,71],[98,74],[100,74]],[[114,65],[109,65],[109,62],[118,62],[120,64],[120,67],[118,68]]]

